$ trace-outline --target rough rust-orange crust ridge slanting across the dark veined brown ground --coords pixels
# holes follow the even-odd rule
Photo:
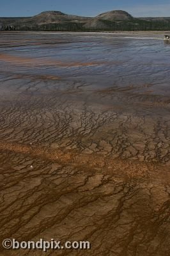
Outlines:
[[[168,164],[163,166],[158,163],[143,163],[139,161],[132,161],[128,159],[113,159],[111,156],[104,156],[101,154],[83,154],[77,150],[64,150],[63,148],[52,149],[47,147],[36,147],[32,145],[23,145],[20,143],[8,143],[0,141],[1,150],[9,150],[19,154],[26,154],[30,157],[38,157],[42,160],[52,161],[54,163],[62,164],[62,166],[73,166],[75,168],[83,168],[86,170],[121,170],[129,177],[140,177],[150,175],[155,170],[167,170]],[[123,174],[121,173],[121,174]],[[168,180],[169,173],[166,172]]]

